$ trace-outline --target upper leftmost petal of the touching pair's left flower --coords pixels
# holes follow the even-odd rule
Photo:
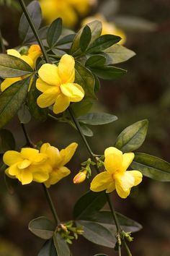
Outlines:
[[[14,150],[8,150],[4,153],[3,161],[7,166],[12,166],[14,163],[23,161],[23,158],[21,153]]]

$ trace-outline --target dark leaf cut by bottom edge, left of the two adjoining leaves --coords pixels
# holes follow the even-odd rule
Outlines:
[[[49,239],[45,242],[45,244],[43,244],[37,256],[58,256],[53,239]]]

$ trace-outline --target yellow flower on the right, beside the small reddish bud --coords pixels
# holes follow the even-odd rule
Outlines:
[[[133,161],[134,153],[122,154],[117,148],[110,147],[104,151],[104,156],[106,171],[94,177],[90,189],[94,192],[106,189],[107,193],[116,189],[120,197],[128,197],[130,189],[142,181],[140,171],[126,171]]]

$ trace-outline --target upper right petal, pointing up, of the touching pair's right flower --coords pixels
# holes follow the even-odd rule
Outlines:
[[[78,144],[76,142],[73,142],[70,145],[68,145],[67,148],[60,151],[60,157],[62,159],[60,166],[65,166],[65,164],[71,160],[77,147]]]

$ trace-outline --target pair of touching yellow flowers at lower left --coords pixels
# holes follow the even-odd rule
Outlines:
[[[76,148],[76,142],[61,151],[44,143],[40,151],[35,148],[22,148],[20,152],[6,151],[3,161],[9,168],[6,168],[5,173],[11,178],[19,179],[22,185],[34,181],[45,182],[45,186],[50,187],[70,174],[65,165],[71,160]]]

